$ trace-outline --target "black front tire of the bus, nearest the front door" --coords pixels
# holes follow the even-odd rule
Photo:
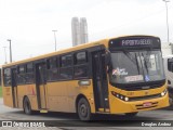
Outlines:
[[[84,98],[81,98],[79,100],[77,112],[78,112],[78,116],[81,120],[90,121],[92,119],[90,104]]]

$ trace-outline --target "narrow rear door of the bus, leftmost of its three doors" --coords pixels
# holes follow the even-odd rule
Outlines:
[[[12,98],[13,98],[13,107],[18,107],[18,96],[17,96],[17,69],[11,68],[11,78],[12,78]]]

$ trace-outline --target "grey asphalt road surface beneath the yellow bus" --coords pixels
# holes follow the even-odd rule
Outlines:
[[[92,122],[83,122],[78,120],[76,114],[62,114],[62,113],[48,113],[37,115],[25,115],[23,109],[10,108],[3,105],[2,99],[0,99],[0,120],[46,120],[46,125],[54,128],[49,129],[63,129],[63,130],[141,130],[150,129],[146,126],[155,126],[156,123],[168,123],[172,127],[152,127],[156,130],[173,129],[173,110],[159,109],[142,112],[136,117],[125,118],[122,115],[96,115],[95,120]],[[106,121],[105,121],[106,120]],[[172,120],[172,121],[170,121]],[[165,125],[164,123],[164,125]],[[144,127],[145,126],[145,127]],[[0,128],[1,129],[1,128]],[[3,128],[4,129],[4,128]],[[23,128],[24,129],[24,128]],[[39,128],[38,128],[39,129]],[[8,130],[8,129],[6,129]],[[27,129],[28,130],[28,129]]]

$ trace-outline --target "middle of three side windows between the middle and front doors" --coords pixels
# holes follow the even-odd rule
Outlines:
[[[72,78],[72,54],[63,55],[61,57],[61,79],[71,79]]]

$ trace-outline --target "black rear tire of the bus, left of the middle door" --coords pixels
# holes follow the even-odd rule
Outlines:
[[[31,115],[31,114],[32,114],[31,105],[30,105],[30,102],[29,102],[29,99],[28,99],[28,98],[25,98],[25,99],[24,99],[23,108],[24,108],[24,113],[25,113],[25,114],[27,114],[27,115]]]

